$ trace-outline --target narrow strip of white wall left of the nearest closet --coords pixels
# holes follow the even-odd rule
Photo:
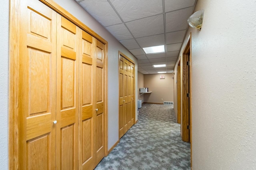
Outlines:
[[[9,1],[0,5],[0,169],[8,169]]]

